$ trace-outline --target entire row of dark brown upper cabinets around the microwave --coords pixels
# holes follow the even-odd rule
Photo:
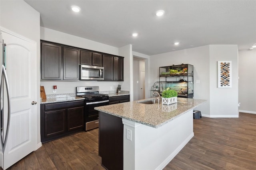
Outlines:
[[[41,80],[81,80],[81,64],[103,66],[104,81],[124,81],[124,57],[41,41]]]

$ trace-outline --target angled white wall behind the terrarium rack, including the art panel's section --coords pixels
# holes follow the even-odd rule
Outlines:
[[[232,61],[232,88],[217,88],[217,61]],[[194,65],[194,98],[208,100],[196,110],[206,117],[238,117],[237,45],[206,45],[163,53],[150,56],[150,63],[149,87],[159,81],[160,66]]]

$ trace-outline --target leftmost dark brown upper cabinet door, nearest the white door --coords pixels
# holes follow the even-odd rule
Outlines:
[[[61,46],[41,43],[42,80],[61,80]]]

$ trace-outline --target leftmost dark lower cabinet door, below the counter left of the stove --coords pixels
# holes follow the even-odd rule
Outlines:
[[[65,109],[47,111],[44,113],[44,137],[65,133]]]

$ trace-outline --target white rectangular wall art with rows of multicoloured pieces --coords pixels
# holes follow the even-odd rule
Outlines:
[[[231,61],[218,61],[218,88],[231,88]]]

